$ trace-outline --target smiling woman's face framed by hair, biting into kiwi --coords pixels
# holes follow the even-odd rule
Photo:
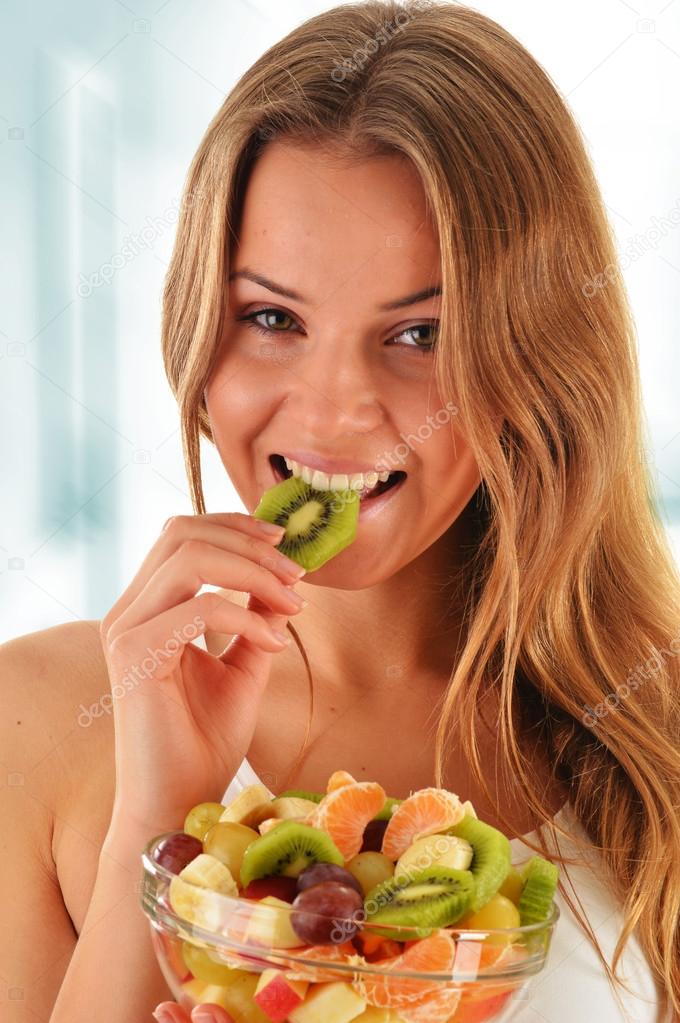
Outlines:
[[[400,157],[343,167],[271,143],[229,270],[206,388],[222,462],[250,513],[278,482],[274,454],[329,474],[406,474],[362,500],[354,543],[311,577],[374,585],[435,543],[481,480],[455,405],[438,395],[441,300],[422,293],[441,285],[439,244],[415,171]]]

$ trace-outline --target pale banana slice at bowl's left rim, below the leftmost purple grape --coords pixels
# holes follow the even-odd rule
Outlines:
[[[170,882],[170,904],[182,920],[207,931],[217,931],[224,906],[214,892],[237,898],[238,885],[221,860],[201,852]]]

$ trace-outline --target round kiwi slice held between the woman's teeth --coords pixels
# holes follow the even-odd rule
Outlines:
[[[356,490],[315,490],[291,476],[265,491],[253,516],[285,527],[277,549],[314,572],[356,538],[359,503]]]

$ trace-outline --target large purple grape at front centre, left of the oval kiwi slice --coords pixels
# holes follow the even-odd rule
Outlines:
[[[306,888],[291,906],[292,929],[301,941],[311,945],[342,944],[357,933],[363,922],[363,897],[355,888],[337,881]]]

